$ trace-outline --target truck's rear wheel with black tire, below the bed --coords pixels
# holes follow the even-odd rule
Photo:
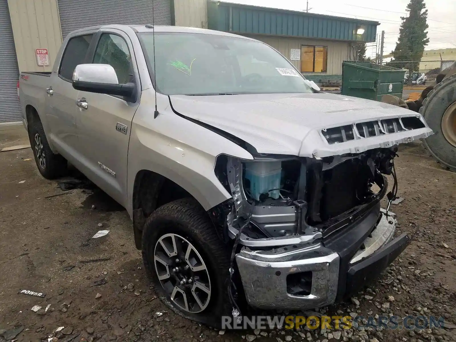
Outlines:
[[[55,179],[67,172],[67,160],[52,152],[44,134],[43,125],[39,119],[34,119],[29,125],[29,139],[36,166],[41,176]]]

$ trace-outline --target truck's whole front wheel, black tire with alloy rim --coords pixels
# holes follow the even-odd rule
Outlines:
[[[229,315],[229,250],[192,198],[159,207],[147,219],[142,256],[147,276],[171,310],[216,328]]]

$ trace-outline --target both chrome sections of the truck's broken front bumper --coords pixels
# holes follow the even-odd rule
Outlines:
[[[342,265],[344,261],[340,255],[337,251],[327,249],[324,241],[306,244],[305,247],[289,245],[267,250],[243,247],[236,254],[236,262],[249,305],[263,309],[308,309],[334,303],[338,296],[339,280],[347,279],[347,268],[361,260],[365,262],[369,258],[374,259],[376,252],[391,241],[395,228],[394,214],[389,212],[388,219],[383,214],[364,240],[363,249],[353,254],[351,259],[347,260],[347,265]],[[394,241],[390,244],[392,247],[389,250],[394,250],[394,253],[391,253],[394,255],[398,255],[405,248],[402,245],[396,248]],[[399,250],[400,248],[402,249]],[[369,267],[370,264],[367,263],[365,268]],[[375,269],[375,274],[380,271],[381,269]],[[310,294],[292,295],[287,291],[287,277],[301,272],[312,272]],[[350,284],[347,287],[353,286]]]

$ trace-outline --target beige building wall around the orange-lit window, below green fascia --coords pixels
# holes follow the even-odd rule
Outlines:
[[[326,74],[342,74],[342,62],[350,59],[348,52],[350,43],[343,41],[328,41],[316,39],[300,39],[288,37],[268,37],[261,35],[244,35],[249,36],[259,41],[264,41],[266,44],[274,47],[282,55],[290,59],[290,49],[300,49],[301,45],[316,45],[328,47],[328,64]],[[298,70],[300,69],[300,61],[290,61]],[[325,73],[304,73],[306,74],[325,74]]]

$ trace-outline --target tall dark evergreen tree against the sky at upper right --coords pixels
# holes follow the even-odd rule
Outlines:
[[[409,16],[401,17],[399,39],[393,51],[394,63],[390,64],[391,67],[409,69],[410,75],[419,71],[425,45],[429,43],[426,31],[429,27],[426,22],[428,11],[425,8],[424,0],[410,0],[406,8]],[[397,63],[401,61],[404,63]]]

